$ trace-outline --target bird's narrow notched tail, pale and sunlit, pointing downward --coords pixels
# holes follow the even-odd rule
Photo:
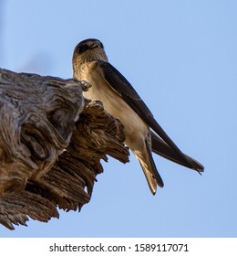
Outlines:
[[[139,164],[146,176],[151,193],[155,195],[157,185],[164,187],[164,183],[152,158],[149,142],[146,140],[146,147],[143,152],[137,150],[133,150],[132,152],[139,160]]]

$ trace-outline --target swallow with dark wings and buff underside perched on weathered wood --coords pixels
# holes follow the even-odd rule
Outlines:
[[[155,120],[149,107],[129,81],[108,62],[104,45],[96,38],[79,42],[74,49],[73,77],[85,80],[91,87],[85,98],[101,101],[104,109],[117,118],[124,127],[125,144],[139,160],[153,195],[163,180],[157,170],[152,152],[201,174],[204,166],[185,155]]]

